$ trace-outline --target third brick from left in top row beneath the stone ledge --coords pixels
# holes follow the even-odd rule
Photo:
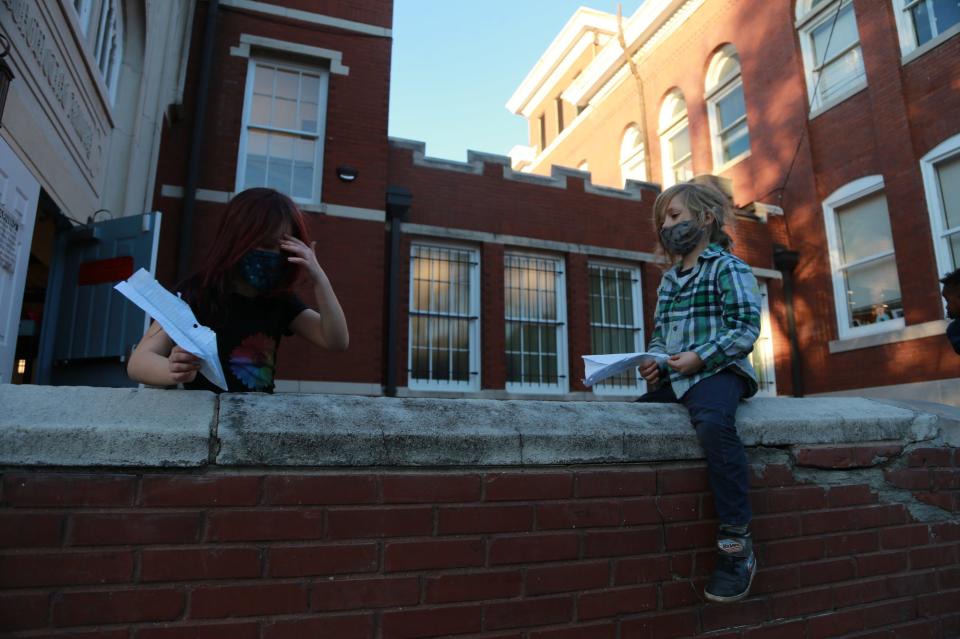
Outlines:
[[[263,503],[275,506],[370,504],[379,500],[375,475],[270,475]]]

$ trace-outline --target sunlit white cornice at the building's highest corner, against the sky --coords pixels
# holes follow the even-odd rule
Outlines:
[[[507,109],[516,114],[520,114],[524,109],[529,109],[529,104],[533,101],[532,98],[554,76],[557,67],[565,62],[567,65],[572,64],[570,59],[575,56],[570,55],[570,53],[582,41],[583,36],[592,35],[594,32],[613,35],[616,33],[616,29],[616,16],[586,7],[577,9],[576,13],[557,34],[557,37],[550,43],[550,46],[547,47],[547,50],[540,56],[540,59],[537,60],[537,63],[533,65],[530,73],[523,79],[517,90],[507,100]]]

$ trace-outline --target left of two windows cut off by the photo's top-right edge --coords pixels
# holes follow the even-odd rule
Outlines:
[[[797,30],[811,114],[867,85],[852,0],[798,0]]]

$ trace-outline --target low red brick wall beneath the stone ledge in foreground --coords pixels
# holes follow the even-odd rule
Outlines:
[[[701,599],[716,521],[699,463],[7,469],[0,628],[11,639],[955,637],[960,451],[902,448],[754,452],[760,572],[752,596],[726,606]],[[885,496],[897,489],[937,517],[914,519]]]

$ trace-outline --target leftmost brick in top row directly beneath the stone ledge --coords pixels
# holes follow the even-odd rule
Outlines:
[[[136,490],[134,475],[8,473],[3,476],[3,500],[14,508],[130,506]]]

